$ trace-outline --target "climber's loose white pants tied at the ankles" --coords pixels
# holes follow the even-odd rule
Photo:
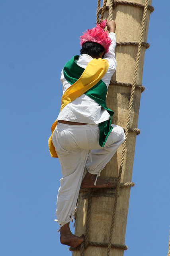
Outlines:
[[[52,142],[59,157],[63,176],[60,180],[56,211],[60,227],[73,218],[84,167],[86,166],[91,174],[100,174],[125,140],[123,129],[115,124],[112,126],[104,148],[99,145],[98,124],[58,123],[55,128]]]

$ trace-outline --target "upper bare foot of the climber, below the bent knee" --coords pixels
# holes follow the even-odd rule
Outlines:
[[[113,182],[103,180],[101,178],[97,179],[96,186],[94,182],[96,180],[96,174],[90,174],[89,172],[86,173],[84,179],[82,180],[81,187],[82,188],[108,188],[113,186]]]

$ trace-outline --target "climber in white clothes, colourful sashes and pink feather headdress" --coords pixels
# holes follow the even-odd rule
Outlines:
[[[104,28],[107,24],[107,31]],[[61,111],[51,127],[49,149],[58,157],[63,178],[57,196],[57,222],[60,241],[77,247],[84,241],[71,233],[80,185],[82,188],[106,188],[112,182],[98,178],[100,172],[125,140],[120,126],[111,124],[114,114],[106,106],[106,94],[116,69],[115,21],[100,22],[80,37],[80,56],[69,60],[62,72]],[[84,167],[88,172],[82,180]]]

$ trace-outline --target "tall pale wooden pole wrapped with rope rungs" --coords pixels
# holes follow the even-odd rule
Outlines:
[[[109,6],[112,0],[107,0],[106,6]],[[113,123],[126,128],[127,116],[129,113],[129,102],[131,99],[131,87],[134,83],[135,67],[137,62],[138,44],[141,34],[141,26],[143,20],[143,6],[134,6],[133,4],[125,4],[125,1],[117,2],[113,8],[113,20],[116,21],[116,38],[117,42],[122,42],[116,47],[117,69],[109,85],[107,95],[107,106],[111,108],[115,114]],[[120,4],[119,2],[124,2]],[[131,2],[127,0],[126,2]],[[136,0],[137,4],[145,5],[145,0]],[[148,1],[151,5],[152,0]],[[104,13],[104,19],[108,18],[108,10]],[[143,30],[143,42],[147,42],[147,33],[149,27],[150,9],[147,9],[145,28]],[[127,45],[129,42],[129,45]],[[141,47],[139,64],[137,67],[136,85],[142,84],[143,64],[146,45]],[[138,88],[137,88],[138,87]],[[129,130],[126,140],[126,148],[123,159],[123,168],[121,174],[121,183],[131,182],[133,159],[135,153],[136,131],[139,116],[139,105],[141,98],[141,87],[136,86],[133,97],[133,104],[130,118],[130,128],[136,129],[132,132]],[[113,158],[101,172],[101,177],[113,181],[117,184],[119,176],[119,166],[121,164],[123,145],[117,150]],[[122,186],[119,189],[119,196],[115,210],[115,220],[113,226],[113,234],[111,236],[111,244],[113,248],[108,252],[109,234],[113,216],[113,208],[115,201],[116,188],[114,189],[98,189],[91,192],[86,191],[79,194],[76,228],[75,234],[80,236],[82,233],[88,233],[86,236],[85,248],[75,250],[72,256],[123,256],[125,248],[125,232],[127,223],[127,213],[129,206],[130,187]],[[91,197],[91,203],[89,196]],[[90,211],[88,209],[90,207]],[[88,213],[87,213],[88,212]],[[87,226],[88,224],[88,226]],[[94,242],[89,245],[88,242]],[[117,248],[116,245],[119,247]],[[124,248],[124,249],[123,249]]]

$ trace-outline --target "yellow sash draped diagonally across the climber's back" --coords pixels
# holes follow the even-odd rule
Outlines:
[[[61,110],[70,102],[78,98],[80,95],[84,94],[87,90],[92,88],[95,84],[97,84],[109,67],[109,63],[107,60],[102,58],[92,59],[84,72],[80,76],[80,78],[72,84],[68,89],[64,92],[61,98]],[[60,110],[60,112],[61,112]],[[52,142],[53,132],[57,126],[57,119],[51,126],[51,136],[49,138],[49,151],[52,157],[58,157],[55,151],[55,147]]]

